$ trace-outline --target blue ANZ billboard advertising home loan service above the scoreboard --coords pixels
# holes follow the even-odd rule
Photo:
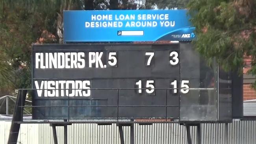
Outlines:
[[[191,41],[187,10],[64,11],[64,42]]]

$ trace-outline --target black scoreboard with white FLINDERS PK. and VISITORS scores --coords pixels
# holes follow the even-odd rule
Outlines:
[[[218,66],[190,43],[33,45],[32,67],[33,119],[219,119]]]

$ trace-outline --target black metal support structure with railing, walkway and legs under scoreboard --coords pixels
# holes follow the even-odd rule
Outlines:
[[[180,122],[180,121],[174,121],[172,119],[170,119],[167,115],[167,113],[165,113],[165,117],[163,117],[162,119],[160,119],[160,121],[156,120],[150,120],[150,119],[131,119],[131,118],[127,118],[127,119],[123,119],[119,114],[120,113],[116,113],[117,117],[116,120],[107,120],[107,119],[102,119],[102,120],[69,120],[69,114],[68,114],[68,118],[63,118],[63,119],[59,119],[59,120],[40,120],[40,121],[31,121],[31,120],[24,120],[22,119],[23,117],[23,110],[24,107],[51,107],[49,105],[43,105],[43,106],[28,106],[25,105],[25,99],[26,99],[26,94],[27,94],[27,90],[35,90],[35,89],[19,89],[18,92],[18,96],[17,96],[17,101],[15,104],[15,111],[13,113],[13,119],[12,119],[12,123],[11,123],[11,128],[10,128],[10,133],[9,133],[9,139],[7,144],[16,144],[17,143],[17,139],[18,139],[18,135],[19,135],[19,129],[20,129],[20,124],[50,124],[50,126],[52,127],[52,132],[53,132],[53,138],[54,138],[54,144],[58,144],[58,138],[57,138],[57,133],[56,133],[56,126],[63,126],[64,129],[64,144],[67,144],[67,125],[71,125],[71,124],[80,124],[80,123],[87,123],[87,124],[98,124],[100,125],[111,125],[111,124],[116,124],[119,127],[119,135],[120,135],[120,140],[121,140],[121,144],[125,144],[124,143],[124,132],[123,132],[123,126],[129,126],[130,127],[130,144],[134,144],[134,124],[139,124],[139,125],[149,125],[149,124],[153,124],[153,123],[179,123],[181,125],[186,126],[186,132],[187,132],[187,141],[188,144],[192,144],[192,138],[191,138],[191,126],[197,126],[197,141],[193,140],[195,144],[201,144],[201,124],[202,122]],[[93,90],[102,90],[102,89],[93,89]],[[117,98],[119,98],[119,90],[120,89],[110,89],[113,90],[115,92],[117,92]],[[121,90],[135,90],[135,88],[132,89],[121,89]],[[165,91],[165,98],[167,97],[166,93],[167,90],[171,90],[171,89],[160,89],[160,90],[164,90]],[[29,93],[29,92],[28,92]],[[166,98],[167,99],[167,98]],[[68,99],[69,100],[69,99]],[[154,107],[165,107],[165,110],[167,109],[168,103],[165,103],[165,105],[154,105]],[[116,107],[117,111],[119,111],[120,107],[137,107],[137,105],[120,105],[119,103],[117,103],[117,105],[73,105],[72,107]],[[70,105],[57,105],[57,106],[52,106],[52,107],[67,107],[68,111],[67,113],[69,113],[69,108],[71,107]],[[141,107],[150,107],[148,105],[143,105]],[[229,121],[227,121],[229,122]],[[225,125],[225,141],[228,143],[228,123],[226,123]],[[193,144],[194,144],[193,143]]]

